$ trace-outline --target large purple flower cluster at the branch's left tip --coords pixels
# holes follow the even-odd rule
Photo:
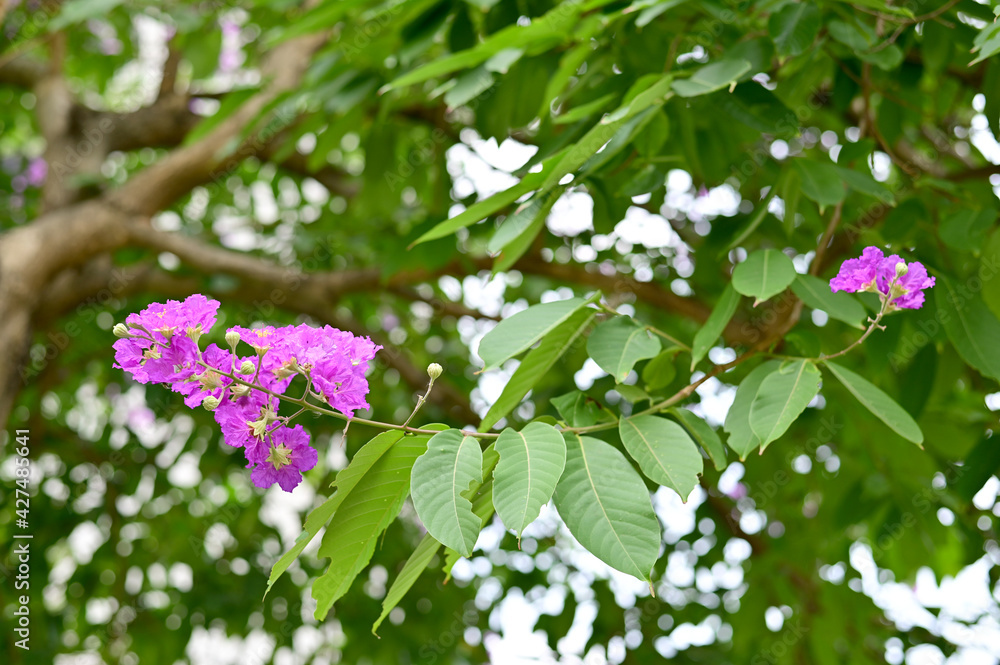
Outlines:
[[[316,466],[318,455],[309,445],[309,433],[278,415],[276,395],[283,395],[301,374],[314,397],[351,417],[368,408],[365,373],[382,347],[330,326],[302,324],[235,326],[226,334],[231,351],[215,344],[202,351],[198,340],[215,324],[218,308],[218,301],[195,294],[130,314],[115,326],[121,338],[114,344],[115,366],[140,383],[167,384],[191,408],[213,410],[225,442],[243,448],[254,484],[266,488],[277,483],[291,492],[302,473]],[[240,341],[250,346],[250,355],[236,355]],[[268,392],[226,374],[241,375]]]

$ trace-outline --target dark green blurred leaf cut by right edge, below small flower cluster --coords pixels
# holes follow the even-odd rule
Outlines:
[[[1000,379],[1000,321],[982,298],[945,277],[934,288],[941,323],[962,360],[985,376]]]

